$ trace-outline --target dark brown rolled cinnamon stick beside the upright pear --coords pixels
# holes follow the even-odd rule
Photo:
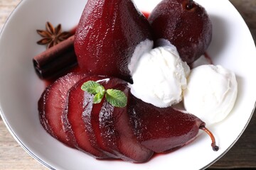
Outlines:
[[[33,66],[41,79],[53,79],[75,67],[78,62],[74,49],[75,35],[33,57]]]

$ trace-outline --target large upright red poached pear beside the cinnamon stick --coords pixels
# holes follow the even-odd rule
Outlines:
[[[88,0],[75,33],[75,53],[85,72],[130,79],[135,47],[151,27],[131,0]]]

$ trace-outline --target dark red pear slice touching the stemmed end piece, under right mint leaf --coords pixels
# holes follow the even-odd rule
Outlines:
[[[112,88],[123,91],[129,101],[127,84],[120,83],[112,86]],[[153,152],[137,141],[129,122],[127,107],[129,107],[129,103],[123,108],[117,108],[106,100],[104,101],[99,115],[100,130],[104,143],[124,161],[146,162]]]

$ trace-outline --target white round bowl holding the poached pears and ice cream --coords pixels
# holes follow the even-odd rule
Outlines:
[[[150,12],[160,0],[135,0],[138,8]],[[234,145],[252,117],[256,101],[256,50],[250,31],[228,0],[197,0],[213,23],[213,40],[208,54],[214,64],[233,70],[238,79],[238,99],[232,113],[209,127],[220,146],[210,147],[210,138],[199,135],[191,144],[161,154],[144,164],[99,161],[66,147],[43,130],[37,111],[45,84],[33,69],[32,58],[45,47],[37,45],[46,21],[63,30],[77,25],[86,0],[23,0],[9,17],[0,35],[1,117],[17,142],[49,169],[167,170],[205,169]]]

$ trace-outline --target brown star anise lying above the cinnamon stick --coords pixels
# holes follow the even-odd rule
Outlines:
[[[36,32],[43,38],[37,43],[39,45],[47,45],[47,48],[53,47],[70,37],[69,32],[62,32],[60,24],[54,28],[50,22],[46,23],[46,30],[36,30]]]

